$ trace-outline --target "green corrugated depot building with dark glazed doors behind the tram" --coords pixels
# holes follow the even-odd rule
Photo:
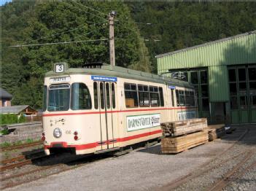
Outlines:
[[[256,122],[256,31],[157,55],[158,74],[191,82],[199,117]]]

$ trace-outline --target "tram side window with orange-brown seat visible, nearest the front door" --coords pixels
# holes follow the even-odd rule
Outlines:
[[[135,84],[124,84],[125,87],[125,106],[126,107],[138,107],[138,94],[137,86]]]

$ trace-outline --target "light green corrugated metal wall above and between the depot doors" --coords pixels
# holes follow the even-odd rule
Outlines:
[[[158,74],[168,69],[208,67],[210,101],[228,101],[229,65],[256,63],[256,31],[158,55]]]

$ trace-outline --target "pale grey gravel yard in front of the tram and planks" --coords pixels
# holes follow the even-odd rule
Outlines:
[[[206,169],[206,167],[212,168],[229,157],[236,157],[236,160],[230,160],[225,165],[219,166],[226,166],[227,168],[213,168],[211,172],[214,172],[215,176],[209,176],[206,173],[205,176],[198,179],[200,182],[194,182],[190,184],[190,187],[187,187],[187,184],[182,185],[183,190],[201,190],[200,188],[213,184],[216,179],[236,165],[233,161],[238,163],[242,159],[243,155],[236,155],[240,152],[246,152],[244,148],[255,148],[253,140],[256,141],[256,132],[250,131],[247,134],[252,135],[252,143],[239,141],[237,146],[240,147],[228,149],[242,133],[244,133],[244,128],[238,128],[235,133],[225,136],[222,140],[217,139],[217,141],[189,149],[178,155],[161,155],[160,144],[157,144],[150,148],[137,149],[128,155],[108,157],[7,190],[163,190],[163,188],[168,189],[171,182],[191,172],[196,173],[201,169]],[[221,158],[213,160],[225,149],[228,149],[228,152],[223,154]],[[207,166],[211,160],[213,160],[212,165]],[[241,176],[241,179],[232,182],[226,189],[237,187],[240,184],[239,181],[244,179],[255,182],[255,169]],[[248,182],[244,182],[244,185],[247,185]],[[247,186],[248,189],[252,187],[251,182]],[[201,185],[203,186],[201,187]],[[234,186],[231,187],[232,185]],[[177,189],[179,188],[181,187]]]

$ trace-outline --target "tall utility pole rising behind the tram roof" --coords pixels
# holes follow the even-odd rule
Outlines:
[[[115,66],[114,17],[117,12],[109,12],[109,58],[110,65]]]

